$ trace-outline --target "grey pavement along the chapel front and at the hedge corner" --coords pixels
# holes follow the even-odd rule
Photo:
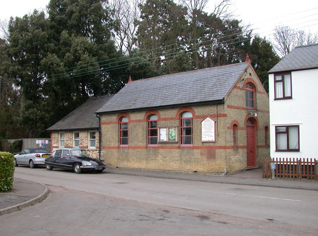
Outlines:
[[[231,175],[208,175],[195,172],[175,173],[120,168],[107,168],[103,173],[318,191],[318,181],[316,180],[262,178],[261,168],[245,170]],[[7,192],[0,192],[0,215],[18,211],[41,202],[48,194],[49,190],[44,184],[14,178],[12,189]]]

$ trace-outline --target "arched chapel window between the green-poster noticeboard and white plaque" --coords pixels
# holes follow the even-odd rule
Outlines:
[[[181,145],[189,146],[192,145],[192,113],[183,112],[181,115]]]

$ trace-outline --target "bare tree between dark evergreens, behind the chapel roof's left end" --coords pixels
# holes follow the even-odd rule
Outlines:
[[[136,43],[139,19],[139,4],[144,0],[111,0],[109,6],[115,22],[114,40],[123,54],[128,54]]]

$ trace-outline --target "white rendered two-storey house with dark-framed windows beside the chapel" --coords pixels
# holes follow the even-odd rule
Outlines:
[[[318,157],[318,44],[296,47],[269,71],[270,157]]]

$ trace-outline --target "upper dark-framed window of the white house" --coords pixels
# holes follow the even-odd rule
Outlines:
[[[292,98],[291,73],[280,73],[274,75],[275,99]]]

